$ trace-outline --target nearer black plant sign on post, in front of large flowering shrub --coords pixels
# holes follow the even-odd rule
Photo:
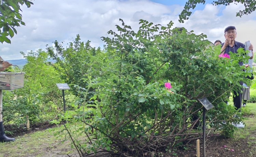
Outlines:
[[[200,103],[203,105],[203,157],[205,157],[205,109],[208,111],[212,108],[214,108],[214,106],[212,105],[212,103],[205,97],[198,99],[200,101]]]

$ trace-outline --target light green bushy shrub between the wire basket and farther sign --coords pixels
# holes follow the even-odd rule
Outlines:
[[[42,122],[46,112],[62,112],[61,91],[56,87],[59,74],[47,62],[48,54],[42,49],[37,52],[21,52],[27,63],[24,87],[3,92],[3,121],[11,124],[24,124],[26,117],[30,124]],[[48,116],[48,115],[47,115]]]

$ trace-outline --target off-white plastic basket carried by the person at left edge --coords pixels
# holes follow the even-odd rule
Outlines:
[[[18,67],[13,65],[14,67]],[[13,90],[17,88],[22,88],[24,86],[24,72],[22,72],[19,67],[20,72],[0,72],[0,89],[2,90]]]

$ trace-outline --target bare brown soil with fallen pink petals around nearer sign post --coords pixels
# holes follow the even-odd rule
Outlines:
[[[255,133],[255,132],[253,132]],[[225,138],[223,135],[211,135],[205,138],[206,157],[246,157],[255,156],[255,143],[248,146],[248,138],[236,141],[233,138]],[[255,141],[253,141],[255,142]],[[169,157],[196,157],[196,141],[189,142],[188,146],[165,153]],[[203,157],[203,141],[200,140],[200,156]],[[254,151],[251,151],[254,150]]]

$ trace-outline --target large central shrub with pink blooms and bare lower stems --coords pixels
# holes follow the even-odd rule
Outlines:
[[[136,33],[120,20],[118,33],[111,30],[108,33],[113,37],[102,37],[104,52],[84,52],[78,40],[66,49],[56,46],[57,54],[66,54],[64,61],[77,53],[86,55],[89,62],[87,68],[74,68],[83,73],[73,82],[79,84],[77,94],[83,96],[76,103],[82,106],[65,113],[62,118],[68,123],[55,135],[69,138],[77,151],[87,154],[98,153],[101,148],[119,155],[143,156],[144,152],[200,138],[201,131],[195,132],[193,127],[202,120],[203,106],[198,99],[207,97],[214,105],[207,111],[208,124],[220,128],[225,120],[224,135],[232,137],[236,129],[232,122],[243,117],[223,100],[227,93],[241,88],[239,81],[245,73],[238,60],[247,59],[241,55],[244,51],[238,49],[230,59],[219,58],[220,47],[205,48],[209,42],[204,34],[173,29],[172,22],[165,27],[146,20],[140,20]],[[73,45],[78,46],[76,50]],[[77,59],[76,64],[83,62]],[[165,88],[167,82],[172,88]],[[240,119],[232,118],[234,114]],[[81,142],[79,134],[84,133],[88,139]]]

